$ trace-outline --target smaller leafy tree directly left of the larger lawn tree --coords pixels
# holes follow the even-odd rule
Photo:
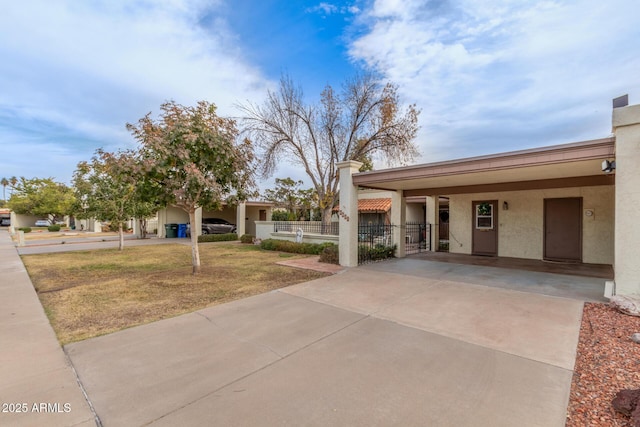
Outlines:
[[[120,250],[124,249],[124,224],[131,218],[146,218],[158,209],[148,197],[151,193],[137,153],[131,150],[97,150],[90,162],[78,163],[73,183],[78,216],[110,221],[118,229]]]

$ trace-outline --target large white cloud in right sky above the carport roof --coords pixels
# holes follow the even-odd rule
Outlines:
[[[640,4],[378,0],[350,55],[423,109],[425,161],[606,136],[640,102]]]

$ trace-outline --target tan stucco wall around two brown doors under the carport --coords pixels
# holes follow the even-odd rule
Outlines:
[[[614,187],[580,187],[500,193],[459,194],[449,198],[449,251],[471,253],[474,200],[498,200],[498,256],[542,259],[544,199],[582,197],[582,261],[613,264]],[[502,210],[507,201],[508,210]]]

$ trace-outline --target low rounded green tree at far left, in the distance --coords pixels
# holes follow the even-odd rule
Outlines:
[[[73,213],[73,189],[55,182],[53,178],[21,177],[19,181],[15,179],[12,189],[8,206],[18,214],[47,217],[55,223]]]

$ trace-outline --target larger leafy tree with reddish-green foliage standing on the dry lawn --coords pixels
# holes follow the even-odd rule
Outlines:
[[[170,101],[160,110],[158,120],[149,113],[127,129],[141,144],[142,166],[163,205],[179,207],[195,224],[198,208],[220,210],[225,202],[234,204],[253,194],[253,147],[248,140],[236,143],[234,120],[218,117],[216,106],[206,101],[194,107]],[[195,231],[194,274],[200,271]]]

